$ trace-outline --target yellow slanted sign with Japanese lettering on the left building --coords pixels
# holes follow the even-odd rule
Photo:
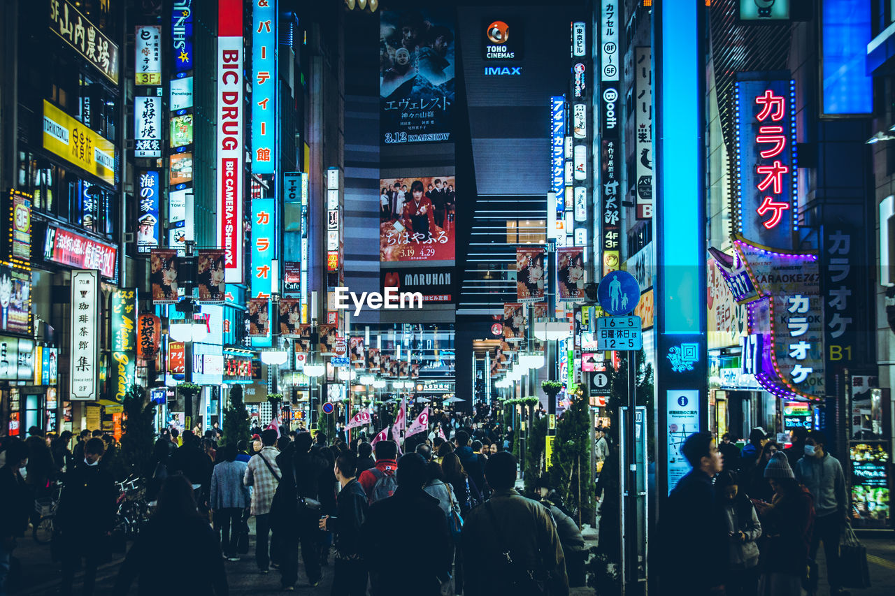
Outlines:
[[[44,99],[44,149],[115,184],[115,145]]]

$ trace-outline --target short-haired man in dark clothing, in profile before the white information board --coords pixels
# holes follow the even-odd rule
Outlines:
[[[728,536],[712,488],[721,454],[704,431],[687,437],[680,451],[693,469],[671,491],[660,520],[662,592],[721,593]]]

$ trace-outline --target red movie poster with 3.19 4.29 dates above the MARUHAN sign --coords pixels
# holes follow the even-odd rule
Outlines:
[[[379,180],[379,260],[454,260],[454,176]]]

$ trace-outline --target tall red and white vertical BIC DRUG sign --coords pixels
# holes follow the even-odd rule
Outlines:
[[[217,2],[217,248],[243,283],[243,3]]]

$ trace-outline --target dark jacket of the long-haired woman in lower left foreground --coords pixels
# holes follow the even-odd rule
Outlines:
[[[159,563],[164,561],[175,562],[180,569],[176,579],[159,570]],[[228,593],[217,536],[199,515],[178,520],[156,516],[149,520],[124,558],[113,593],[126,594],[134,579],[140,585],[141,596]]]

